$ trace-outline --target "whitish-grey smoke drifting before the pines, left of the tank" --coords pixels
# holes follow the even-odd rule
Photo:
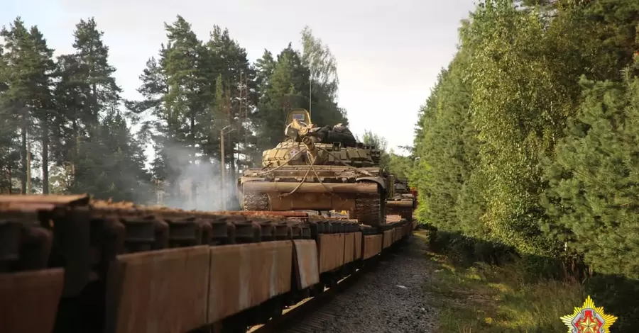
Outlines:
[[[195,157],[194,157],[195,155]],[[176,144],[163,147],[160,159],[163,181],[156,184],[155,203],[185,210],[236,210],[237,178],[227,167],[224,180],[217,159],[197,156]]]

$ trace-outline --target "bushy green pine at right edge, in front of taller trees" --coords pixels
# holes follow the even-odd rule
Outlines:
[[[639,279],[639,77],[582,79],[584,102],[547,168],[549,230],[602,273]]]

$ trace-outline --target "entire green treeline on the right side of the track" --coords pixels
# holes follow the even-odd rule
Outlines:
[[[462,23],[417,124],[418,216],[636,280],[639,1],[529,2]]]

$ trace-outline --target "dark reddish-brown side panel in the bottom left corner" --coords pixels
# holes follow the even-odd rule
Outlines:
[[[0,332],[51,332],[63,279],[63,269],[0,274]]]

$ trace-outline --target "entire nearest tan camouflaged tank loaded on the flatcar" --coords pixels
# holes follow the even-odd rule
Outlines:
[[[243,210],[346,210],[378,226],[386,221],[388,175],[381,152],[342,124],[319,127],[305,109],[285,121],[285,140],[262,154],[262,167],[238,180]]]

